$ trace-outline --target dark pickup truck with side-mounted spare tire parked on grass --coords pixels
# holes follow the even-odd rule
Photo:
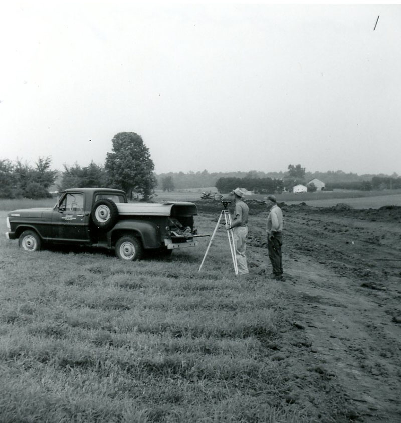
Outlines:
[[[13,210],[7,216],[7,239],[18,239],[26,251],[46,244],[87,245],[114,249],[134,261],[144,250],[168,254],[193,247],[197,231],[189,202],[128,203],[124,191],[72,188],[58,193],[53,208]]]

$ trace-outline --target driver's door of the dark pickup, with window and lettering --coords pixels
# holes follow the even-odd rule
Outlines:
[[[85,213],[84,195],[68,192],[53,214],[53,239],[56,242],[89,243],[90,213]]]

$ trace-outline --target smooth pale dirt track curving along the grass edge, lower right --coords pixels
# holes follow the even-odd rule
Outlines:
[[[348,278],[299,261],[291,275],[296,282],[283,284],[284,295],[317,358],[336,375],[353,403],[351,416],[369,422],[400,421],[399,330],[387,330],[388,316],[350,289],[353,281]]]

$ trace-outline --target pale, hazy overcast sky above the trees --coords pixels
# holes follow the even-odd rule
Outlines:
[[[0,159],[401,174],[399,40],[391,3],[4,0]]]

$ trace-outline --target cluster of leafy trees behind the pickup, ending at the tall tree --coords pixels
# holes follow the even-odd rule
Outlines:
[[[122,189],[129,198],[148,199],[157,185],[154,164],[142,137],[135,132],[120,132],[112,139],[112,151],[104,166],[93,161],[85,167],[64,165],[57,188],[110,187]],[[0,198],[44,198],[51,194],[59,172],[51,170],[51,158],[40,157],[33,167],[20,160],[0,159]]]

